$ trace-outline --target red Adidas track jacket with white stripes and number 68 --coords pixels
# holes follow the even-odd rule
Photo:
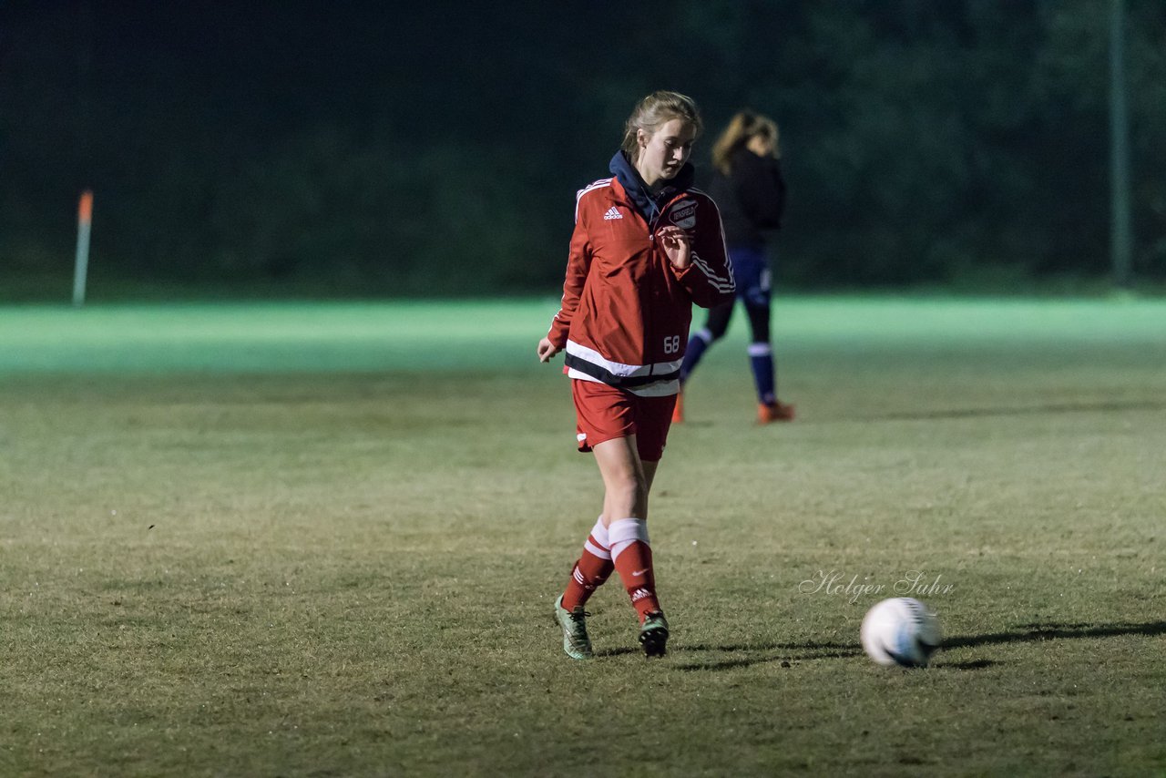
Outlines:
[[[682,271],[655,239],[665,224],[691,240],[693,261]],[[566,350],[573,378],[675,394],[693,303],[728,302],[735,288],[712,198],[683,190],[648,224],[618,178],[602,178],[578,192],[562,307],[547,337]]]

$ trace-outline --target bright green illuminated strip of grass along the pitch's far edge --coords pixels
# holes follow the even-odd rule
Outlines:
[[[0,374],[529,367],[529,337],[546,331],[556,308],[557,300],[8,307]],[[808,297],[782,301],[775,327],[782,353],[815,359],[869,349],[908,359],[954,349],[1045,359],[1152,348],[1164,310],[1157,300]]]

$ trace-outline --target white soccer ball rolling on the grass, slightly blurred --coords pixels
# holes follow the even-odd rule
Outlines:
[[[887,667],[926,667],[943,638],[935,614],[914,597],[877,603],[863,617],[859,636],[866,656]]]

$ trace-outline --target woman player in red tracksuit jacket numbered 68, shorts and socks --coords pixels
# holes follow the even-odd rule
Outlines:
[[[603,514],[555,602],[563,650],[592,656],[584,604],[612,570],[640,621],[648,657],[663,656],[668,622],[656,596],[648,491],[680,390],[693,303],[733,299],[721,216],[693,188],[701,132],[691,98],[653,92],[635,105],[610,178],[578,192],[562,307],[538,355],[566,352],[578,448],[603,477]]]

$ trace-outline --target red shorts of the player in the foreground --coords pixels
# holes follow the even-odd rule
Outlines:
[[[659,462],[672,426],[676,395],[640,397],[599,384],[571,379],[575,398],[575,428],[581,451],[596,443],[635,435],[640,460]]]

